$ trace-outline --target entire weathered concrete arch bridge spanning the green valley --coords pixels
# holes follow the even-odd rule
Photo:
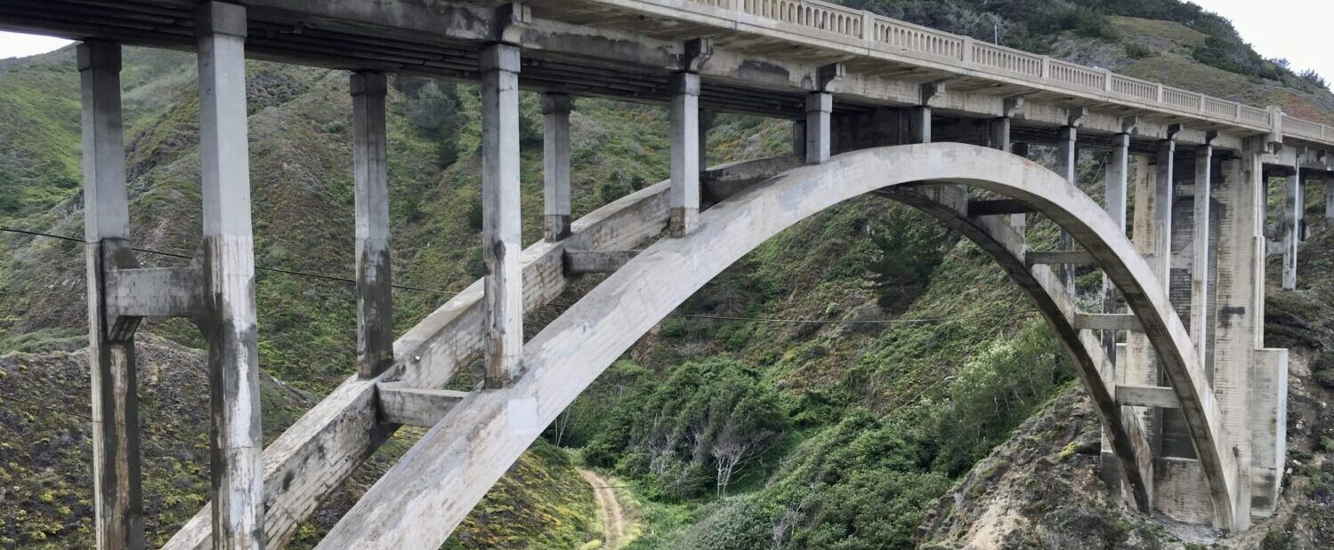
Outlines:
[[[1287,356],[1263,345],[1265,264],[1282,254],[1283,285],[1295,286],[1302,185],[1334,174],[1334,131],[1321,124],[818,0],[0,0],[0,28],[84,40],[99,547],[144,546],[133,376],[144,317],[189,317],[209,344],[213,501],[167,547],[279,547],[415,425],[426,437],[320,547],[434,549],[691,293],[782,229],[867,193],[959,230],[1029,293],[1097,405],[1113,490],[1229,531],[1274,511]],[[125,44],[199,55],[204,240],[185,268],[140,268],[129,242]],[[358,373],[267,449],[245,56],[348,69],[355,108]],[[387,73],[479,81],[483,97],[487,276],[396,340]],[[544,95],[546,116],[546,238],[527,249],[520,88]],[[571,221],[580,95],[670,105],[671,178]],[[704,170],[710,112],[792,120],[792,156]],[[1055,170],[1027,160],[1034,145],[1055,150]],[[1081,149],[1107,157],[1102,204],[1075,185]],[[1286,177],[1287,196],[1273,230],[1271,176]],[[1030,248],[1033,216],[1062,229],[1055,249]],[[1099,308],[1075,300],[1075,265],[1102,270]],[[524,342],[523,313],[584,273],[610,276]],[[442,389],[476,358],[482,386]]]

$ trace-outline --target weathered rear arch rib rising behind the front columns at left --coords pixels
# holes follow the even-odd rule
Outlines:
[[[626,249],[660,234],[667,226],[668,182],[644,188],[602,206],[572,225],[563,242],[538,242],[524,250],[524,309],[532,310],[564,290],[564,248]],[[269,547],[281,547],[315,509],[398,426],[376,410],[379,384],[440,388],[482,357],[483,290],[476,281],[395,341],[394,368],[375,378],[346,380],[264,449],[264,534]],[[164,549],[204,550],[212,534],[211,506],[177,531]]]

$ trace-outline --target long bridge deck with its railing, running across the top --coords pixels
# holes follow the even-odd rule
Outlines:
[[[496,40],[502,1],[247,0],[248,55],[340,69],[478,79],[479,48]],[[1277,112],[1081,67],[816,0],[531,0],[522,25],[520,84],[530,89],[660,103],[683,43],[714,40],[700,104],[792,117],[819,68],[842,63],[836,109],[920,105],[920,85],[946,83],[939,113],[995,117],[1025,96],[1017,125],[1050,128],[1083,108],[1083,128],[1122,131],[1139,116],[1143,138],[1185,124],[1183,144],[1219,131],[1239,138],[1286,135],[1334,145],[1334,129]],[[0,0],[0,28],[129,45],[192,49],[193,0]]]

